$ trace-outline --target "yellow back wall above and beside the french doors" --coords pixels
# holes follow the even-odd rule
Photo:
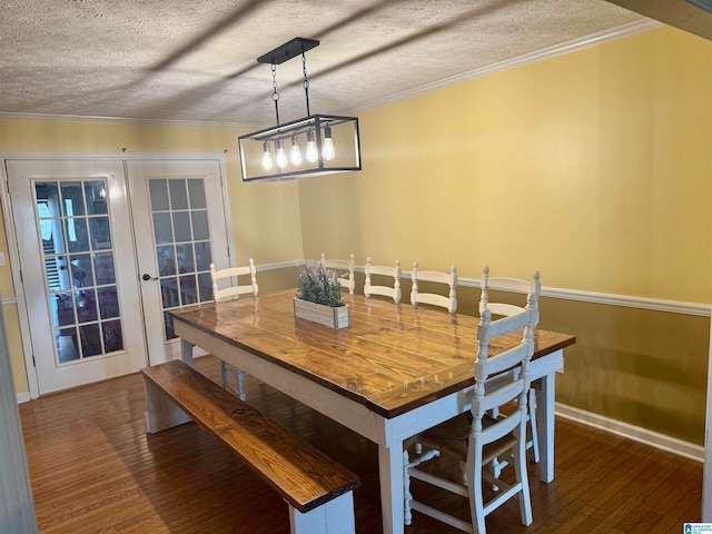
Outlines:
[[[237,137],[229,128],[0,120],[0,152],[224,154],[236,258],[270,264],[301,257],[296,182],[243,184]],[[0,220],[0,250],[9,256]],[[14,296],[10,267],[0,267],[0,295]],[[18,393],[28,392],[17,308],[3,309]],[[10,324],[11,323],[11,324]]]

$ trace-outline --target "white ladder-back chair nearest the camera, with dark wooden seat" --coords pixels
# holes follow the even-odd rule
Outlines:
[[[475,388],[469,412],[429,428],[406,442],[404,451],[404,521],[413,522],[413,512],[432,516],[465,532],[485,534],[485,517],[510,498],[517,496],[523,525],[532,523],[532,503],[526,471],[526,392],[530,388],[530,360],[534,354],[534,329],[538,320],[537,294],[527,295],[526,308],[518,314],[492,320],[485,309],[477,327],[479,343],[474,365]],[[491,342],[524,328],[521,343],[500,354],[490,353]],[[497,376],[501,387],[487,383]],[[502,413],[496,419],[492,411],[516,402],[516,408]],[[427,452],[411,458],[408,446],[419,443]],[[514,464],[514,483],[505,483],[490,473],[488,466],[497,456],[507,456]],[[437,468],[424,471],[421,465],[434,457],[448,456],[464,466],[463,484],[439,475]],[[447,463],[443,464],[447,465]],[[425,483],[427,488],[441,488],[468,500],[471,522],[463,521],[433,504],[414,496],[411,479]],[[485,488],[485,483],[491,487]],[[486,490],[486,492],[485,492]],[[424,488],[421,488],[425,492]],[[436,491],[436,490],[435,490]],[[432,500],[435,502],[443,500]]]

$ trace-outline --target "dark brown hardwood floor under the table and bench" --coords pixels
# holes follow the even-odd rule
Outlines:
[[[218,378],[216,358],[196,367]],[[380,532],[376,447],[250,377],[246,386],[250,404],[360,475],[357,531]],[[147,436],[145,407],[138,374],[20,405],[40,533],[289,532],[286,504],[220,443],[195,424]],[[700,521],[702,464],[563,418],[554,482],[535,469],[534,523],[521,525],[512,500],[487,518],[490,533],[679,534]],[[464,501],[446,501],[467,516]],[[456,532],[417,513],[406,527]]]

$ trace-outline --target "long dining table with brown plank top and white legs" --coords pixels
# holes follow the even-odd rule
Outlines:
[[[479,318],[344,294],[350,325],[334,329],[296,318],[294,298],[287,289],[170,312],[182,358],[191,365],[199,347],[374,442],[383,532],[403,533],[404,441],[469,409]],[[497,337],[490,352],[521,339]],[[535,332],[530,370],[544,482],[554,478],[555,375],[574,343]]]

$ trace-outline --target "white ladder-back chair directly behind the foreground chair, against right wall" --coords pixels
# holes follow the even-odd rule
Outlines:
[[[523,306],[517,306],[514,304],[507,303],[493,303],[491,300],[490,291],[506,291],[506,293],[515,293],[515,294],[524,294],[527,293],[541,291],[541,283],[538,273],[535,273],[535,277],[532,280],[523,280],[520,278],[507,278],[507,277],[494,277],[490,276],[490,267],[485,266],[482,269],[482,278],[479,280],[482,287],[482,295],[479,297],[479,314],[485,309],[490,309],[493,315],[508,317],[514,314],[518,314],[524,309]],[[526,448],[532,449],[532,456],[535,463],[540,461],[540,451],[538,451],[538,436],[537,436],[537,426],[536,426],[536,392],[534,388],[530,388],[528,390],[528,404],[530,409],[527,412],[527,427],[528,427],[528,437],[526,441]],[[494,463],[494,472],[495,475],[498,475],[500,471],[506,466],[505,463],[498,463],[495,461]]]

